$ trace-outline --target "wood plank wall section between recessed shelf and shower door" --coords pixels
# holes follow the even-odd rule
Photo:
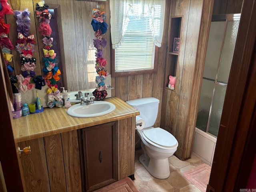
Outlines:
[[[175,90],[164,89],[160,126],[179,142],[175,155],[191,157],[208,31],[215,14],[240,13],[242,0],[171,1],[170,16],[183,16]],[[230,6],[232,4],[232,7]],[[214,6],[214,8],[213,8]]]

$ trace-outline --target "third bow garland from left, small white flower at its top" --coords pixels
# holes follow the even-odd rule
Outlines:
[[[44,62],[44,78],[46,79],[46,84],[48,85],[48,107],[52,108],[62,107],[63,101],[60,99],[60,91],[58,90],[57,81],[60,80],[60,69],[58,66],[55,66],[56,61],[56,53],[52,50],[52,42],[53,38],[50,37],[52,34],[52,28],[50,26],[50,19],[52,15],[48,11],[48,6],[44,4],[44,1],[40,1],[36,4],[36,17],[39,18],[39,27],[37,30],[40,32],[44,38],[42,41],[44,43],[43,48],[43,62]],[[54,88],[54,89],[53,89]],[[58,97],[54,97],[53,95],[58,95]],[[58,98],[58,99],[56,99]]]

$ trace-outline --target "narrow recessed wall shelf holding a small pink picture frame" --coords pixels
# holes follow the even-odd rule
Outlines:
[[[168,32],[168,50],[165,72],[165,88],[168,88],[169,76],[177,78],[178,56],[180,47],[180,32],[181,32],[182,16],[171,16]],[[174,38],[176,41],[174,42]],[[178,43],[177,43],[178,41]]]

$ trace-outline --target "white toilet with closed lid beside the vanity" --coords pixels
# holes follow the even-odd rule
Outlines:
[[[176,152],[178,141],[166,130],[152,127],[156,122],[159,100],[154,97],[126,101],[140,111],[139,117],[145,120],[143,129],[136,129],[140,136],[142,155],[140,163],[158,179],[170,176],[168,158]]]

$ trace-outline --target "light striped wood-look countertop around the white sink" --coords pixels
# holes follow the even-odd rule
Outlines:
[[[62,132],[77,130],[98,124],[134,117],[140,112],[123,100],[112,97],[104,101],[111,102],[116,109],[110,114],[94,118],[77,118],[67,114],[66,108],[44,108],[41,113],[22,116],[12,121],[14,137],[18,142],[32,140]]]

